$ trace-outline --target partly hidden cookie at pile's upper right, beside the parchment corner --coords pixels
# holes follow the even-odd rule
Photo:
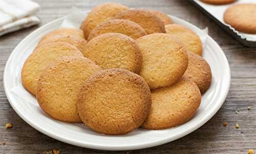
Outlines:
[[[190,52],[202,55],[203,45],[199,36],[180,24],[165,25],[166,33],[178,38]]]

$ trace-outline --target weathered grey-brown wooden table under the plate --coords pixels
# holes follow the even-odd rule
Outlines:
[[[71,6],[89,10],[106,1],[37,1],[41,10],[37,13],[41,25],[65,16]],[[205,16],[187,1],[172,0],[131,0],[114,1],[133,8],[157,9],[180,17],[199,28],[208,27],[209,35],[224,50],[231,69],[231,86],[224,105],[219,112],[197,131],[161,146],[120,153],[247,153],[256,148],[256,49],[247,48]],[[0,37],[0,153],[43,153],[52,148],[61,153],[107,153],[108,151],[76,147],[52,139],[33,129],[22,120],[10,106],[4,91],[3,73],[5,63],[14,47],[39,26],[21,30]],[[251,107],[247,110],[247,107]],[[236,110],[240,110],[236,114]],[[5,129],[5,123],[13,123],[13,128]],[[228,122],[224,127],[223,122]],[[239,123],[240,128],[234,125]],[[117,153],[113,151],[111,153]]]

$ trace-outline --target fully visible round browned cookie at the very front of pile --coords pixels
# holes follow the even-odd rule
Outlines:
[[[92,130],[127,134],[146,119],[151,92],[141,76],[124,69],[107,69],[84,83],[77,107],[80,118]]]

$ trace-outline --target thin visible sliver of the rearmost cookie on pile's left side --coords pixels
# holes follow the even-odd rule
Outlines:
[[[53,36],[76,36],[79,38],[84,39],[82,30],[79,29],[73,29],[73,28],[60,28],[54,31],[51,31],[50,33],[46,34],[44,37],[42,37],[41,40],[53,37]]]

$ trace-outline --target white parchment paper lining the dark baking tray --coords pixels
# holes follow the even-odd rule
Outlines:
[[[240,36],[242,39],[246,39],[248,41],[256,41],[256,34],[246,34],[242,32],[238,32],[231,25],[224,22],[223,15],[227,8],[234,4],[243,4],[243,3],[254,3],[256,4],[255,0],[239,0],[231,4],[226,5],[211,5],[201,2],[200,0],[194,0],[197,4],[199,4],[202,8],[204,8],[207,12],[209,12],[212,16],[222,22],[224,25],[229,27],[234,33]],[[256,21],[255,21],[256,22]]]

